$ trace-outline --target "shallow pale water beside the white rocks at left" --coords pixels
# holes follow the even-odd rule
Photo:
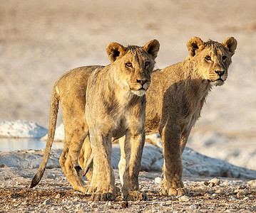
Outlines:
[[[0,138],[0,151],[42,148],[46,148],[46,141],[40,141],[40,138]],[[52,148],[63,148],[63,143],[53,142]]]

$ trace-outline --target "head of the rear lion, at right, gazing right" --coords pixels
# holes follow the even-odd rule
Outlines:
[[[224,84],[231,57],[235,54],[237,40],[227,38],[223,43],[213,40],[203,42],[198,37],[188,40],[190,57],[196,60],[197,70],[205,80],[215,86]]]

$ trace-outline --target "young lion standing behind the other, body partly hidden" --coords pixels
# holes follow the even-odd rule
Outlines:
[[[227,69],[237,48],[237,40],[230,37],[223,43],[213,40],[203,42],[194,37],[188,40],[187,47],[190,55],[183,62],[153,72],[146,94],[145,133],[159,132],[163,141],[162,191],[168,195],[188,194],[182,181],[181,155],[210,89],[227,80]],[[119,141],[121,160],[118,168],[122,182],[126,158],[123,138]],[[85,165],[90,153],[88,141],[85,141],[79,157],[80,165]],[[86,171],[89,169],[88,165]],[[86,175],[87,178],[90,178],[90,173],[91,170]]]

